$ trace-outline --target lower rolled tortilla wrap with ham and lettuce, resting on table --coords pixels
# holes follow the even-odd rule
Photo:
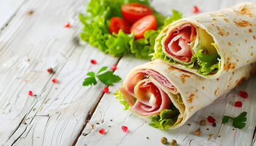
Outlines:
[[[152,127],[166,130],[180,127],[255,72],[256,63],[251,63],[209,80],[155,60],[132,69],[116,95]]]

